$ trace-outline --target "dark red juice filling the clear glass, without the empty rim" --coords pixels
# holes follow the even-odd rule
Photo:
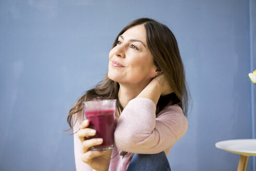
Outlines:
[[[90,120],[89,128],[96,130],[96,135],[91,138],[102,138],[101,145],[93,146],[92,150],[112,148],[114,144],[114,115],[115,109],[103,109],[100,111],[86,111],[86,117]]]

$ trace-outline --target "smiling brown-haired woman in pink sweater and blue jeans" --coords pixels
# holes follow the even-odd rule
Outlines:
[[[112,150],[90,150],[103,141],[88,139],[96,131],[84,120],[82,102],[93,99],[117,99]],[[185,72],[173,33],[153,19],[134,20],[109,52],[105,80],[70,109],[77,170],[170,170],[166,156],[185,135],[186,116]]]

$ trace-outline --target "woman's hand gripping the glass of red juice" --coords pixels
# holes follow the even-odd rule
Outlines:
[[[108,170],[112,150],[94,151],[90,150],[92,146],[100,145],[103,143],[102,138],[87,139],[88,137],[95,136],[96,131],[89,126],[89,120],[83,120],[80,130],[77,135],[82,143],[82,161],[87,163],[95,170]]]

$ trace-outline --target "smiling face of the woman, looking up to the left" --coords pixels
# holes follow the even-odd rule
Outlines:
[[[109,52],[109,79],[141,86],[151,81],[156,67],[146,38],[143,25],[129,28],[119,35],[116,46]]]

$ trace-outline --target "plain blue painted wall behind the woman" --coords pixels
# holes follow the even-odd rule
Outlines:
[[[139,17],[174,32],[186,68],[193,107],[172,170],[236,170],[239,155],[214,144],[255,138],[255,12],[255,0],[0,0],[0,170],[75,170],[67,113]]]

